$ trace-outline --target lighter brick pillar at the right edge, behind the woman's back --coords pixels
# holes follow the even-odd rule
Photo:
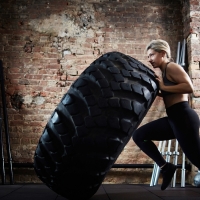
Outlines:
[[[188,47],[188,73],[194,85],[194,93],[191,95],[191,107],[200,115],[200,0],[183,1],[184,36],[187,38]],[[188,176],[188,182],[193,184],[197,168],[192,167]]]

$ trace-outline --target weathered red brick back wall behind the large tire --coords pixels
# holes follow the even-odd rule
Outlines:
[[[50,114],[72,82],[103,53],[120,51],[151,67],[144,48],[152,39],[162,38],[176,59],[177,43],[189,29],[183,5],[179,0],[2,0],[0,59],[13,162],[33,162]],[[157,97],[141,124],[164,115],[162,99]],[[131,140],[117,162],[152,160]],[[34,173],[27,178],[19,169],[16,173],[18,182],[37,180]],[[150,175],[151,170],[116,169],[105,182],[149,183]]]

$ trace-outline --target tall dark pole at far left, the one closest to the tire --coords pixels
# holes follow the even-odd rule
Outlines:
[[[3,119],[4,119],[4,129],[5,129],[5,136],[6,136],[6,149],[8,154],[8,164],[9,164],[9,171],[10,171],[10,184],[13,183],[13,167],[12,167],[12,156],[10,150],[10,136],[8,131],[8,115],[6,109],[6,98],[5,98],[5,88],[4,88],[4,76],[3,76],[3,63],[0,60],[0,76],[1,76],[1,97],[2,97],[2,105],[3,105]]]

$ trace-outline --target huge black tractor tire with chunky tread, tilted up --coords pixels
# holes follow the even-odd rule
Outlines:
[[[69,200],[92,197],[158,93],[154,72],[119,52],[102,55],[72,84],[35,151],[38,177]]]

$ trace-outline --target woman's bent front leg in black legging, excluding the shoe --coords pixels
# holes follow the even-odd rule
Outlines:
[[[158,151],[157,146],[151,140],[163,141],[174,138],[175,136],[167,117],[145,124],[133,133],[134,142],[144,153],[152,158],[159,167],[165,165],[166,161]]]

